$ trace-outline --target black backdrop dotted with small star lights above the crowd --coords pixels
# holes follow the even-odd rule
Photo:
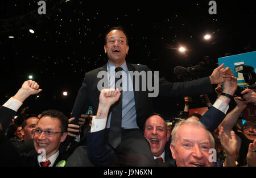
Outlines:
[[[5,1],[3,5],[6,7],[1,16],[4,19],[23,16],[37,9],[37,3]],[[47,12],[52,14],[45,16],[42,22],[40,19],[40,23],[26,21],[29,22],[26,24],[28,27],[22,30],[0,30],[0,60],[12,67],[11,71],[9,68],[3,69],[3,74],[6,76],[6,73],[11,72],[8,80],[14,81],[24,81],[31,74],[32,80],[41,82],[46,88],[55,85],[56,89],[47,94],[63,95],[61,91],[70,88],[67,89],[71,91],[68,96],[73,93],[72,97],[75,98],[84,73],[108,61],[103,48],[106,31],[121,24],[129,36],[127,61],[146,64],[172,81],[172,71],[177,65],[196,65],[205,55],[217,60],[227,51],[242,48],[242,42],[234,42],[234,36],[243,35],[245,30],[239,32],[236,26],[241,24],[248,33],[253,31],[250,24],[243,22],[245,17],[254,22],[255,11],[252,6],[234,5],[239,7],[243,15],[240,18],[240,13],[232,13],[232,5],[222,7],[222,3],[217,1],[217,15],[209,15],[208,3],[202,1],[169,2],[169,5],[167,2],[148,2],[147,6],[139,5],[139,2],[116,6],[111,2],[90,5],[81,0],[46,1]],[[222,9],[232,12],[226,13]],[[230,16],[236,20],[229,19]],[[0,26],[4,19],[0,19]],[[21,26],[22,23],[19,23]],[[208,36],[205,32],[208,32]],[[180,51],[181,44],[184,49]],[[236,45],[232,48],[230,44]],[[4,80],[8,81],[7,78]]]

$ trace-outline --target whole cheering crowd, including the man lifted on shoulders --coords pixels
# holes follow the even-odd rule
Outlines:
[[[256,103],[256,92],[245,89],[243,97],[233,98],[237,78],[230,68],[221,64],[210,76],[187,82],[158,78],[159,96],[184,97],[183,113],[168,128],[160,113],[154,113],[152,98],[148,97],[152,91],[122,90],[136,85],[122,76],[150,69],[126,63],[129,45],[121,27],[106,33],[104,50],[109,61],[85,74],[71,118],[51,109],[40,114],[23,110],[14,119],[29,96],[42,92],[32,80],[24,81],[18,92],[0,106],[1,166],[256,166],[256,118],[236,127],[247,104]],[[102,90],[98,90],[100,71],[108,73],[107,86]],[[115,77],[118,72],[121,88]],[[218,86],[212,104],[207,93],[214,93],[213,84]],[[198,94],[204,97],[208,110],[203,115],[189,114],[191,96]],[[236,107],[228,111],[233,99]],[[96,115],[85,115],[89,105]]]

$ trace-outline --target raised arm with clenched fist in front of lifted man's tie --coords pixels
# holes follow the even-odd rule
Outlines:
[[[110,106],[118,101],[120,95],[118,89],[101,90],[97,115],[93,117],[92,128],[86,132],[88,158],[96,166],[118,166],[113,148],[105,142],[105,127]]]

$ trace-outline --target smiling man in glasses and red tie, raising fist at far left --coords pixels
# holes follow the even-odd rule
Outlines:
[[[0,107],[2,130],[6,129],[8,123],[14,117],[15,111],[19,109],[23,101],[31,94],[38,94],[41,91],[42,89],[39,89],[39,85],[35,81],[25,81],[15,96]],[[67,129],[68,118],[63,113],[57,110],[44,111],[33,131],[34,150],[20,152],[20,150],[14,148],[9,139],[6,137],[2,139],[5,143],[1,146],[1,149],[5,150],[3,156],[1,156],[3,165],[40,166],[40,160],[49,160],[50,163],[45,165],[55,166],[61,160],[66,160],[68,155],[59,152],[59,146],[67,137]],[[61,166],[61,164],[59,165]],[[42,164],[42,166],[44,165]]]

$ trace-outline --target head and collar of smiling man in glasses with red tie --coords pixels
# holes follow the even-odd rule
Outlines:
[[[68,118],[57,110],[43,111],[34,132],[35,151],[41,155],[37,162],[49,160],[48,166],[56,165],[60,160],[65,160],[59,154],[59,146],[68,134]]]

